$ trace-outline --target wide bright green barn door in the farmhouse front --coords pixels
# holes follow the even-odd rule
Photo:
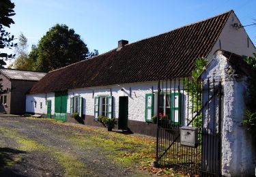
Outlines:
[[[55,93],[55,120],[61,120],[63,122],[67,121],[67,102],[68,93],[67,92],[56,92]]]

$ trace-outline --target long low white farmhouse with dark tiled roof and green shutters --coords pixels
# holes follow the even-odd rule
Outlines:
[[[231,10],[132,44],[121,40],[109,52],[48,72],[27,94],[26,112],[70,122],[78,112],[81,123],[94,126],[104,115],[118,118],[118,129],[156,135],[152,116],[158,80],[188,77],[195,59],[211,61],[220,49],[253,57],[255,46],[241,26]],[[167,95],[163,112],[178,115],[182,108],[168,108]]]

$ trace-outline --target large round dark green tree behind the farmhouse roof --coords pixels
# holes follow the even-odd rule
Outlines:
[[[87,56],[88,48],[80,35],[59,24],[49,29],[29,53],[29,59],[35,63],[33,69],[45,72],[85,60]]]

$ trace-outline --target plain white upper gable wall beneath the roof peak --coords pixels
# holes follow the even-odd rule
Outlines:
[[[242,56],[244,55],[253,57],[253,52],[256,52],[255,46],[251,42],[251,39],[248,39],[248,35],[243,27],[240,29],[236,29],[231,26],[234,23],[238,23],[238,25],[241,25],[236,14],[232,12],[227,20],[227,23],[225,24],[225,27],[223,28],[223,31],[216,40],[212,51],[210,52],[210,54],[208,54],[207,58],[209,61],[213,59],[214,52],[218,49],[240,54]]]

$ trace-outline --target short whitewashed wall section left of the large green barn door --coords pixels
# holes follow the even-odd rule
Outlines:
[[[46,100],[52,101],[51,114],[54,114],[54,93],[41,93],[35,95],[26,95],[26,112],[33,112],[35,114],[47,114]],[[35,108],[36,101],[36,108]],[[40,108],[40,103],[42,103],[42,108]]]

